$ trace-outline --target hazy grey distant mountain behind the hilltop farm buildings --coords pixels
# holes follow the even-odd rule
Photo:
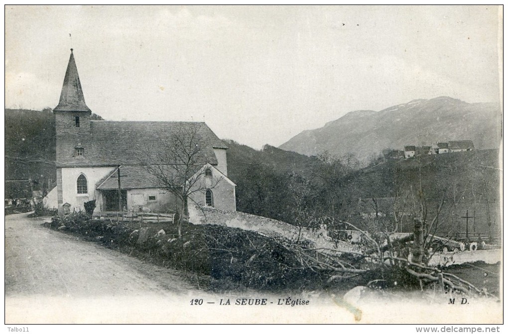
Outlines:
[[[450,140],[472,140],[477,149],[499,148],[499,106],[441,96],[378,112],[353,111],[321,128],[305,130],[279,148],[309,156],[325,150],[334,155],[355,153],[366,159],[386,148],[402,150],[404,145]]]

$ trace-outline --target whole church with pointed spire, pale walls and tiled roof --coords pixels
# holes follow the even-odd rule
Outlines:
[[[91,110],[79,80],[73,49],[58,105],[56,124],[56,198],[58,212],[84,209],[95,200],[94,214],[123,210],[176,213],[182,206],[167,189],[160,175],[147,166],[172,165],[162,159],[169,143],[182,133],[192,134],[199,145],[195,156],[193,204],[223,211],[236,211],[235,183],[228,178],[228,146],[204,122],[148,122],[91,120]],[[163,145],[164,143],[165,145]],[[162,169],[159,169],[162,170]],[[199,180],[202,179],[202,180]],[[165,189],[166,186],[166,189]],[[187,203],[185,205],[188,205]]]

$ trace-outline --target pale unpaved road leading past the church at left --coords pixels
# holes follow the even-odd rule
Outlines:
[[[132,296],[191,288],[175,271],[45,228],[41,223],[41,219],[26,218],[26,214],[6,216],[6,296]]]

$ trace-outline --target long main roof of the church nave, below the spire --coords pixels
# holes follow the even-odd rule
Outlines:
[[[196,130],[196,131],[195,131]],[[216,165],[214,148],[227,149],[204,122],[144,122],[144,121],[90,121],[90,133],[76,139],[63,135],[57,145],[58,166],[139,165],[169,163],[160,161],[165,146],[182,133],[196,132],[194,143],[202,145],[200,163]],[[79,142],[78,142],[79,141]],[[78,144],[84,155],[75,157]]]

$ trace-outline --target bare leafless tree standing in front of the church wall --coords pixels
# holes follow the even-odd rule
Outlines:
[[[171,138],[160,141],[161,149],[148,152],[142,162],[161,188],[178,199],[178,237],[181,237],[182,225],[188,218],[188,201],[202,205],[195,202],[192,195],[215,188],[221,180],[207,175],[206,143],[200,136],[200,126],[175,128]]]

